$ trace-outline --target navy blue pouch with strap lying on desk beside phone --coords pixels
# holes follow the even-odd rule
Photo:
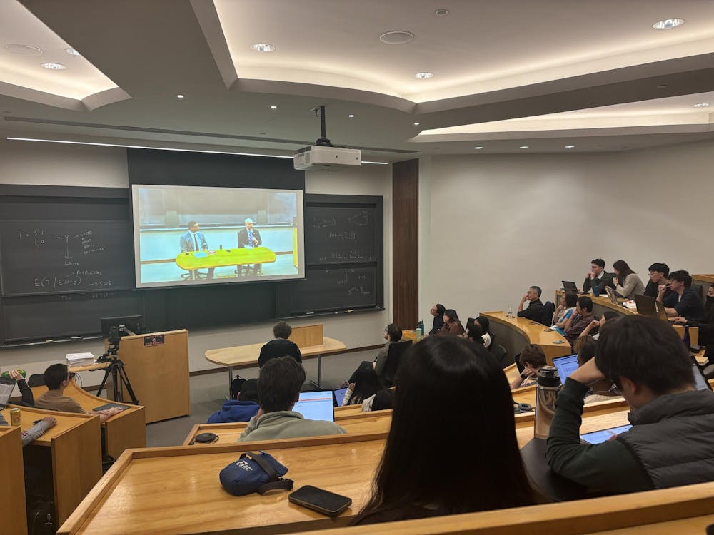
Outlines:
[[[221,470],[219,479],[223,489],[233,496],[246,496],[253,492],[265,494],[271,490],[292,490],[293,480],[283,478],[288,469],[266,452],[246,452]]]

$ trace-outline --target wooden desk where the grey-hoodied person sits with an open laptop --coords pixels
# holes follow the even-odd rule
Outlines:
[[[389,431],[392,424],[392,409],[373,412],[360,412],[358,414],[347,414],[339,416],[335,414],[335,423],[344,427],[348,433],[383,433]],[[235,444],[241,433],[248,426],[248,422],[235,422],[231,424],[196,424],[191,428],[188,437],[183,441],[182,446],[211,447]],[[215,433],[218,435],[216,442],[211,444],[201,444],[193,442],[194,437],[199,433]]]

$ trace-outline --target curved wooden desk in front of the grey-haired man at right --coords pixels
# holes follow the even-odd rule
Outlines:
[[[527,320],[525,317],[506,317],[504,312],[481,312],[488,317],[491,331],[496,335],[496,344],[502,345],[508,355],[518,355],[528,344],[538,345],[545,353],[549,365],[553,357],[572,355],[570,342],[557,331],[546,331],[548,327]]]

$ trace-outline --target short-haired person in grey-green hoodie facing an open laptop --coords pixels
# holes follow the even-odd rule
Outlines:
[[[258,402],[261,408],[248,422],[238,442],[346,433],[333,422],[308,420],[293,411],[304,382],[303,365],[293,357],[268,360],[258,378]]]

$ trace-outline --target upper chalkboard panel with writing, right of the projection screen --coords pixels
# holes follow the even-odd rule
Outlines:
[[[379,207],[381,209],[381,206]],[[373,263],[378,259],[381,212],[375,205],[305,207],[305,258],[308,265]]]

